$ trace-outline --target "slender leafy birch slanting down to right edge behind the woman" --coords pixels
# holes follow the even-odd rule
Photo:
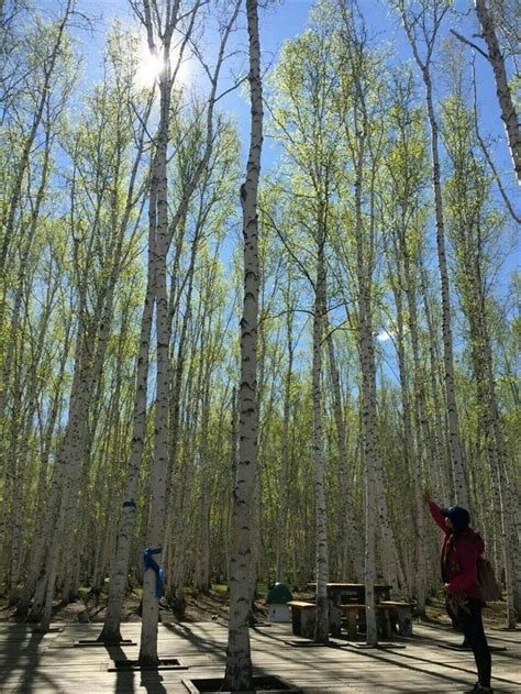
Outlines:
[[[455,69],[453,95],[443,104],[444,139],[452,176],[446,186],[450,231],[457,263],[462,307],[469,323],[469,345],[476,381],[476,407],[490,470],[492,503],[500,514],[500,542],[507,584],[507,618],[516,623],[519,586],[519,542],[509,511],[512,494],[507,485],[506,447],[496,393],[490,346],[489,276],[498,218],[489,202],[489,181],[477,156],[470,109],[464,99],[464,70]],[[480,438],[480,437],[477,437]],[[519,574],[518,574],[519,575]]]

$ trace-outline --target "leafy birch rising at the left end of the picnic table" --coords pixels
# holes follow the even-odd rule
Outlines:
[[[332,198],[336,192],[335,140],[336,120],[333,110],[335,74],[332,66],[332,15],[325,8],[323,24],[314,15],[307,34],[287,44],[276,74],[277,108],[273,115],[277,134],[286,144],[292,167],[292,209],[303,234],[295,232],[284,241],[291,249],[292,261],[299,245],[308,251],[298,262],[311,287],[312,366],[311,393],[313,414],[313,458],[315,470],[317,529],[317,621],[315,640],[328,642],[329,581],[328,518],[324,486],[323,441],[323,342],[328,324],[326,249],[332,225]],[[280,233],[280,231],[279,231]],[[310,247],[311,244],[311,247]]]

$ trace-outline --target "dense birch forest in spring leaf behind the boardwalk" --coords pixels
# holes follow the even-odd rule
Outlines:
[[[424,613],[430,493],[514,627],[519,5],[379,2],[398,49],[319,0],[268,55],[274,2],[93,4],[0,0],[3,602],[106,594],[118,641],[142,590],[154,662],[162,593],[224,584],[240,658],[314,581],[326,639],[329,581]]]

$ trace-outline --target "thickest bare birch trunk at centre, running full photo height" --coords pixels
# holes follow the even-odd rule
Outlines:
[[[257,461],[257,313],[258,219],[257,189],[263,147],[263,90],[257,0],[246,0],[250,38],[252,120],[246,180],[241,187],[244,234],[244,304],[241,320],[241,384],[239,392],[239,464],[233,493],[230,564],[230,624],[225,684],[232,692],[253,689],[250,648],[251,503]]]

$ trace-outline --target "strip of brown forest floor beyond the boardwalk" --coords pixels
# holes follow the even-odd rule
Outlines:
[[[262,596],[266,595],[266,590],[259,591]],[[226,587],[223,585],[214,586],[207,595],[203,593],[196,594],[187,588],[185,592],[186,612],[185,616],[179,619],[173,608],[164,599],[160,602],[160,620],[164,623],[195,623],[195,621],[228,621],[229,615],[229,596]],[[310,593],[293,593],[295,599],[312,599]],[[141,592],[135,591],[125,596],[123,605],[124,623],[141,621],[140,617]],[[107,608],[107,595],[102,593],[100,596],[92,595],[88,588],[80,590],[80,596],[74,603],[55,603],[53,609],[53,621],[63,621],[66,624],[88,624],[103,623]],[[267,607],[264,599],[259,598],[255,602],[254,608],[257,621],[263,621],[267,616]],[[505,602],[491,603],[483,612],[485,627],[501,627],[507,623],[507,604]],[[0,623],[1,621],[20,621],[16,617],[15,608],[9,607],[5,598],[0,597]],[[426,619],[424,624],[450,625],[451,620],[445,612],[444,598],[431,597],[426,607]]]

